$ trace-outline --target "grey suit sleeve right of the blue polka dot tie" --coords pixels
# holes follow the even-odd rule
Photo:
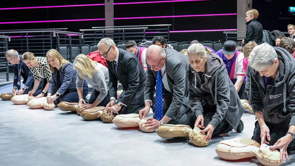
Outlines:
[[[176,112],[183,105],[186,67],[183,63],[177,63],[172,68],[172,80],[174,81],[172,85],[172,103],[165,115],[173,120],[175,119]]]

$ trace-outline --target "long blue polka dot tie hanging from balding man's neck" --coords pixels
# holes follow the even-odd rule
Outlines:
[[[156,99],[155,99],[155,118],[159,121],[163,117],[163,106],[162,106],[162,74],[161,70],[158,71],[156,81]]]

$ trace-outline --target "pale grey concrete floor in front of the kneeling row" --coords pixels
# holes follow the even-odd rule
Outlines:
[[[2,86],[0,93],[10,92]],[[238,161],[220,159],[214,148],[221,140],[251,138],[255,117],[246,111],[245,129],[212,139],[207,147],[194,146],[187,138],[162,139],[155,132],[138,128],[122,129],[102,121],[84,121],[75,113],[29,109],[0,100],[0,165],[155,165],[210,166],[261,165],[247,158]],[[150,113],[149,117],[152,116]],[[294,165],[295,155],[285,165]]]

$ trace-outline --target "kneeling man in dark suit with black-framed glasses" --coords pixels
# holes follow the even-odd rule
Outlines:
[[[118,49],[110,38],[101,39],[98,50],[108,64],[111,101],[106,110],[117,114],[119,111],[120,114],[138,113],[144,108],[144,85],[147,77],[138,58],[124,49]],[[123,92],[117,99],[118,81],[123,86]]]

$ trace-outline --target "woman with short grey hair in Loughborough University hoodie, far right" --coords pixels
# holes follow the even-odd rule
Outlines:
[[[252,139],[280,149],[281,160],[288,159],[287,152],[295,150],[295,59],[285,49],[263,43],[248,61],[249,104],[257,118]]]

